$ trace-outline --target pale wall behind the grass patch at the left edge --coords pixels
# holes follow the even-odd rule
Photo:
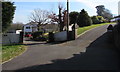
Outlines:
[[[20,42],[20,34],[6,33],[2,34],[2,44],[12,44]]]

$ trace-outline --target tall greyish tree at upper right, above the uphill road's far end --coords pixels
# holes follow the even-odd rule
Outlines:
[[[102,16],[107,20],[113,18],[113,14],[110,12],[110,10],[106,9],[104,5],[96,6],[96,9],[98,16]]]

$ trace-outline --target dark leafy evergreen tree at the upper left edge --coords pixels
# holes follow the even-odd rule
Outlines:
[[[2,32],[11,25],[16,7],[14,2],[2,2]]]

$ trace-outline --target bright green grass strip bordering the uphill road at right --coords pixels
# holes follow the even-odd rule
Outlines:
[[[86,26],[86,27],[80,27],[77,29],[77,35],[82,34],[83,32],[95,28],[95,27],[99,27],[99,26],[103,26],[103,25],[107,25],[107,24],[111,24],[111,23],[102,23],[102,24],[95,24],[95,25],[91,25],[91,26]]]

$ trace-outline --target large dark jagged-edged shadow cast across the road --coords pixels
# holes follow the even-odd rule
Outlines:
[[[110,42],[110,35],[103,34],[92,42],[86,52],[73,54],[69,59],[52,60],[51,64],[36,65],[17,70],[118,70],[119,54]]]

